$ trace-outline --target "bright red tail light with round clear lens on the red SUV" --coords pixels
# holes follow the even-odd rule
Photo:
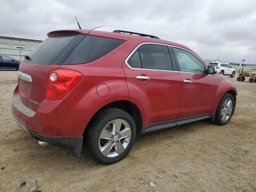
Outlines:
[[[58,100],[65,96],[81,80],[82,74],[68,69],[56,69],[49,72],[45,98]]]

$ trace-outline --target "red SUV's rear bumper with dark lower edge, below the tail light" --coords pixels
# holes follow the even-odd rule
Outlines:
[[[33,114],[16,95],[12,100],[12,114],[20,128],[35,139],[70,147],[80,157],[84,130],[96,110],[72,109],[62,99],[44,100]]]

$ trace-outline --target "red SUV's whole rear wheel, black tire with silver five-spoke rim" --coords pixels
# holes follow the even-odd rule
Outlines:
[[[132,149],[136,124],[127,112],[106,108],[94,116],[86,128],[86,138],[90,153],[97,162],[113,164]]]

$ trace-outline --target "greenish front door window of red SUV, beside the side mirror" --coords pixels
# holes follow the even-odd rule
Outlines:
[[[206,69],[204,64],[198,58],[196,58],[196,56],[179,48],[174,48],[174,51],[178,59],[180,71],[202,74],[205,73]]]

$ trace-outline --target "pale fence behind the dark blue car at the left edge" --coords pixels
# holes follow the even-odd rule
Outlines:
[[[28,55],[32,49],[18,49],[18,48],[2,48],[0,47],[0,54],[8,55],[16,60],[23,60],[23,55]]]

